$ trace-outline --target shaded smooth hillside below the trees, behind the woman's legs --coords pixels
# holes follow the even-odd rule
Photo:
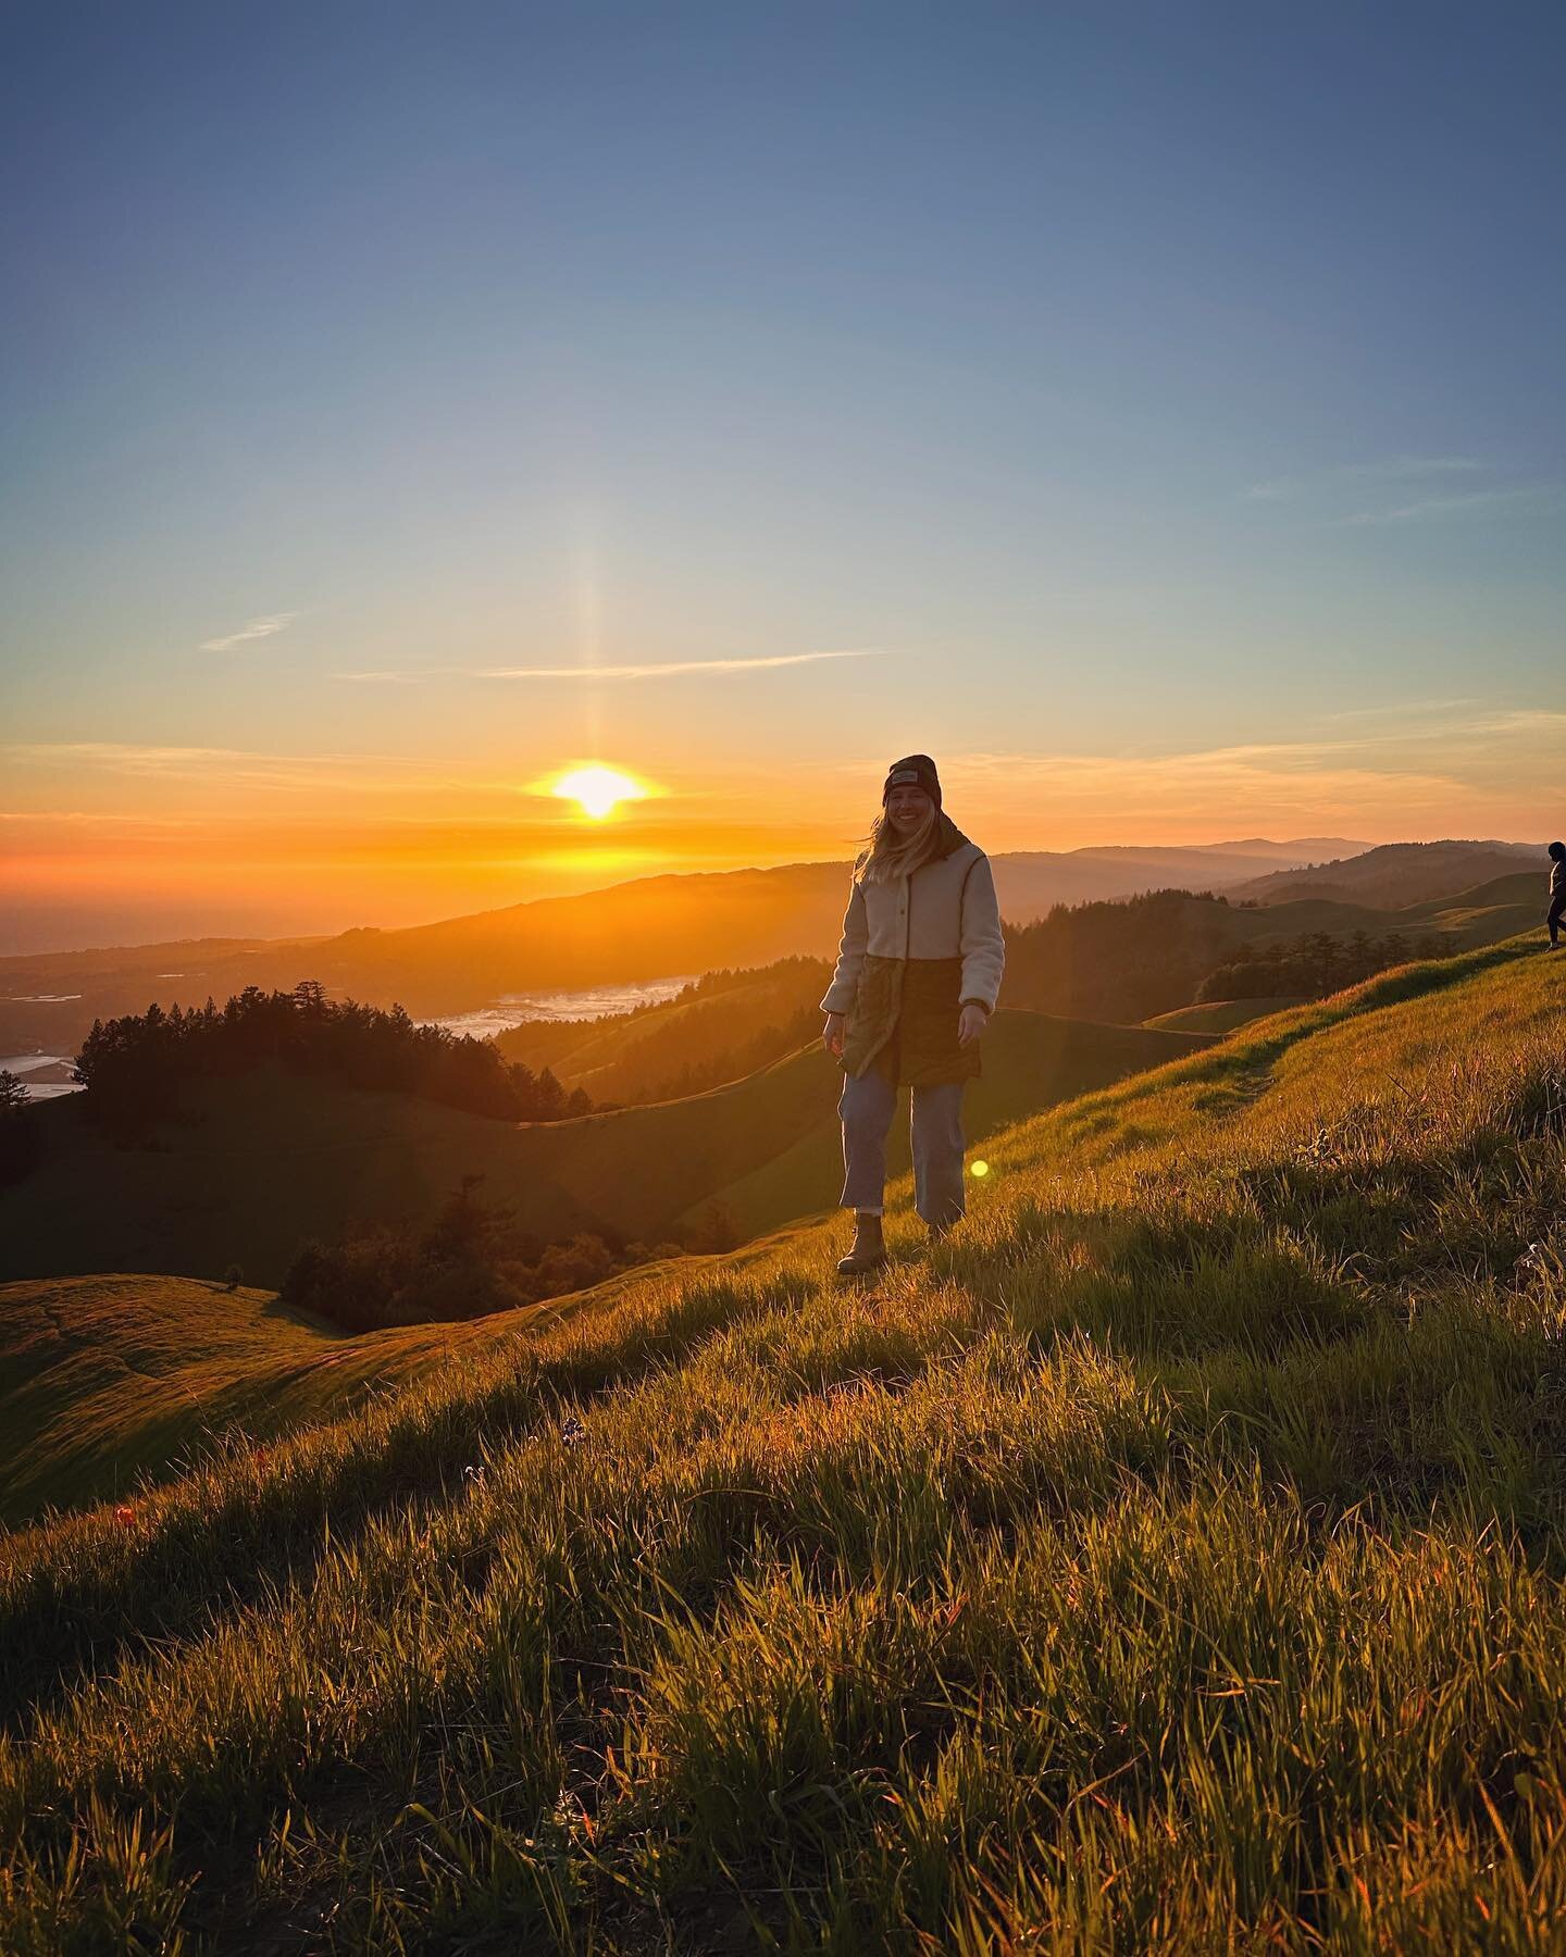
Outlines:
[[[1186,1035],[998,1012],[971,1135],[1184,1051]],[[115,1147],[80,1096],[37,1110],[43,1164],[0,1190],[0,1280],[94,1270],[278,1286],[299,1243],[352,1223],[425,1223],[462,1176],[542,1239],[658,1243],[732,1194],[746,1231],[836,1202],[834,1061],[810,1045],[730,1086],[572,1121],[456,1108],[256,1069],[194,1082],[188,1117]],[[904,1145],[906,1147],[906,1145]],[[906,1162],[906,1153],[900,1157]]]

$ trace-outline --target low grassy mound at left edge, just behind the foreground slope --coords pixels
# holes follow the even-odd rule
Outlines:
[[[0,1284],[0,1523],[117,1499],[225,1438],[266,1442],[497,1337],[509,1329],[474,1321],[345,1339],[270,1292],[190,1278]]]

